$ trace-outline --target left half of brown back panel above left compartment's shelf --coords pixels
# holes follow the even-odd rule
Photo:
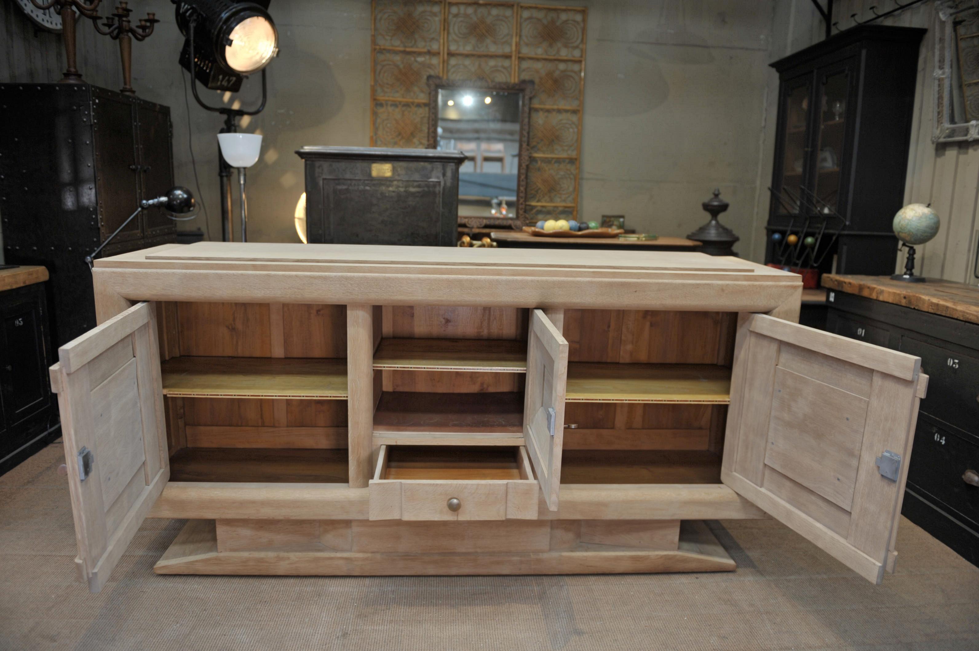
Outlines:
[[[177,303],[180,355],[271,357],[268,303]]]

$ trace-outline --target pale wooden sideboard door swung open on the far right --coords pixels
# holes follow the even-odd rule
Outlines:
[[[893,572],[920,358],[742,315],[722,481],[865,579]]]

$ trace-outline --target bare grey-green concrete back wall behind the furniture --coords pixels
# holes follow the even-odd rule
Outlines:
[[[802,0],[796,0],[801,3]],[[782,7],[792,0],[568,0],[588,7],[582,147],[582,214],[625,214],[640,232],[682,236],[707,220],[700,203],[715,187],[731,207],[722,221],[742,241],[739,252],[762,255],[753,237],[765,215],[768,126],[774,93],[768,63]],[[809,4],[805,0],[804,4]],[[177,65],[182,37],[168,0],[134,4],[162,20],[134,43],[133,86],[172,110],[178,183],[198,190],[190,164],[193,139],[200,192],[212,239],[220,238],[216,139],[219,115],[185,102],[186,73]],[[281,55],[269,67],[269,101],[243,129],[265,136],[263,156],[249,171],[250,239],[298,241],[293,212],[303,192],[303,145],[366,145],[369,135],[369,0],[276,0]],[[0,33],[12,65],[0,79],[54,81],[61,39],[35,34],[12,3],[3,3]],[[79,25],[80,66],[87,78],[120,85],[117,45]],[[252,106],[257,80],[229,102]],[[221,97],[207,93],[211,103]],[[764,199],[764,196],[763,196]],[[203,219],[200,221],[204,221]],[[195,222],[181,228],[195,228]]]

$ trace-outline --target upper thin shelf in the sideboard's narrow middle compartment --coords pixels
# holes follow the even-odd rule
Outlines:
[[[527,372],[527,343],[487,339],[382,339],[375,369]]]

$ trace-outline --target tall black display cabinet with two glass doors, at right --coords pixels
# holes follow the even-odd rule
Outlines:
[[[822,272],[834,260],[840,274],[894,271],[898,240],[891,221],[904,202],[924,33],[858,26],[771,64],[780,82],[771,188],[802,200],[783,203],[772,194],[767,229],[784,235],[791,226],[800,237],[816,235],[819,213],[835,210],[846,225],[835,242],[823,238]],[[806,216],[812,221],[803,234]],[[775,247],[769,238],[766,262],[776,262]]]

